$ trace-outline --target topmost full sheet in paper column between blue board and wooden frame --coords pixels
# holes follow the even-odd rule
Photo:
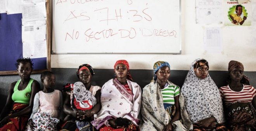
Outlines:
[[[22,19],[24,21],[45,20],[45,3],[22,4]]]

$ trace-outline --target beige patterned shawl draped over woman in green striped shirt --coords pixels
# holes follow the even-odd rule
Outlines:
[[[168,86],[176,85],[168,81]],[[141,114],[140,130],[142,131],[163,131],[164,127],[171,121],[170,115],[164,109],[163,96],[157,82],[151,82],[143,88]],[[178,131],[187,130],[180,121],[173,124],[179,128],[175,128]]]

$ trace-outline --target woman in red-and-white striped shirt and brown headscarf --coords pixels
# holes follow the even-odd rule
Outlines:
[[[228,63],[228,74],[228,85],[219,89],[225,103],[227,124],[232,131],[255,131],[256,90],[244,75],[242,63],[231,60]]]

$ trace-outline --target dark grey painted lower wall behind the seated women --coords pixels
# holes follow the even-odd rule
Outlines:
[[[109,79],[114,78],[113,69],[94,69],[95,75],[92,78],[92,85],[102,87]],[[66,83],[74,83],[79,81],[76,76],[76,69],[74,68],[52,68],[56,76],[56,89],[61,90]],[[152,80],[153,70],[131,69],[131,76],[133,80],[137,82],[141,88],[145,87]],[[185,77],[188,71],[184,70],[172,70],[170,81],[174,84],[182,87]],[[256,72],[244,72],[250,79],[251,85],[256,86]],[[209,71],[210,76],[218,87],[225,86],[227,84],[227,71]],[[43,89],[40,82],[40,74],[32,74],[31,78],[40,83],[41,89]],[[6,102],[8,95],[8,88],[11,82],[19,80],[18,75],[0,76],[0,111]]]

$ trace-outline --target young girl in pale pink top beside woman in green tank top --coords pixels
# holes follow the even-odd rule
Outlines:
[[[50,71],[41,74],[43,91],[36,93],[29,125],[33,130],[56,130],[62,109],[61,91],[55,90],[55,75]]]

